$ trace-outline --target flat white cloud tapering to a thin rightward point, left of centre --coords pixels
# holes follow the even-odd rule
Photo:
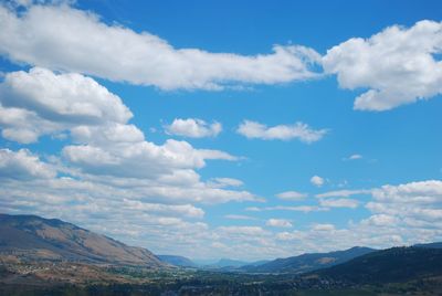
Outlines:
[[[162,146],[148,141],[66,146],[63,156],[85,172],[133,178],[151,178],[175,169],[202,168],[206,159],[235,160],[227,152],[198,150],[186,141],[172,139]]]

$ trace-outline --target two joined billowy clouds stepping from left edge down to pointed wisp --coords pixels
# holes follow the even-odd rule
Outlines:
[[[133,114],[122,99],[81,74],[41,67],[8,73],[0,84],[0,115],[2,136],[19,142],[69,131],[76,145],[62,154],[88,173],[152,178],[202,168],[207,159],[238,159],[186,141],[146,141],[144,133],[127,123]]]

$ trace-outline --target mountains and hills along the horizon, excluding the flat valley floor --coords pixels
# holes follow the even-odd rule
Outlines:
[[[155,255],[146,249],[128,246],[57,219],[0,214],[0,255],[14,256],[24,261],[77,262],[149,268],[175,265],[249,274],[304,274],[320,269],[318,274],[324,276],[338,273],[344,277],[348,275],[347,277],[350,278],[354,274],[362,274],[359,268],[366,268],[364,266],[368,263],[373,265],[372,268],[370,267],[372,271],[394,269],[394,266],[401,266],[401,262],[408,262],[406,258],[399,261],[401,256],[409,257],[410,266],[417,266],[414,269],[419,271],[422,267],[419,265],[419,256],[424,256],[424,260],[439,260],[438,252],[442,252],[442,243],[417,244],[412,247],[381,251],[355,246],[344,251],[306,253],[253,263],[222,258],[214,264],[199,266],[190,258],[177,255]],[[391,266],[387,263],[391,263]],[[442,261],[438,263],[442,266]],[[432,265],[429,263],[428,266]],[[367,277],[370,278],[368,275]]]

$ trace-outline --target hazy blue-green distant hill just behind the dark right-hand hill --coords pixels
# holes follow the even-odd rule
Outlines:
[[[373,249],[355,246],[345,251],[311,253],[287,258],[277,258],[257,266],[243,266],[248,273],[305,273],[337,265],[355,257],[373,252]]]

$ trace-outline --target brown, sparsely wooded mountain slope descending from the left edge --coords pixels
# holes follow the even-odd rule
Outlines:
[[[28,261],[166,266],[146,249],[36,215],[0,214],[0,254]]]

